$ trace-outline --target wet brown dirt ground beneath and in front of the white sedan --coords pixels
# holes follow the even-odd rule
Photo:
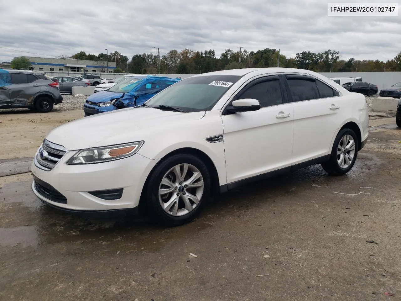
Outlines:
[[[0,177],[0,300],[399,300],[399,141],[394,118],[371,120],[347,175],[247,185],[177,228],[64,214],[29,174]]]

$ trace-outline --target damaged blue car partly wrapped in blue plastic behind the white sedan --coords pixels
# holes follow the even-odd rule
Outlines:
[[[83,106],[85,116],[140,106],[180,79],[156,75],[136,75],[107,90],[89,96]]]

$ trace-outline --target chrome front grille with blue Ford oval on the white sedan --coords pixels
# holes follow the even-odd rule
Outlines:
[[[49,171],[56,166],[67,152],[68,150],[64,146],[45,139],[34,158],[34,163],[40,169]]]

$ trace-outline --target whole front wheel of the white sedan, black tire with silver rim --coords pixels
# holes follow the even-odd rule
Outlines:
[[[201,176],[191,181],[198,172]],[[183,179],[180,178],[182,175]],[[192,188],[189,187],[190,183],[194,185]],[[163,226],[178,226],[198,216],[210,196],[210,187],[210,173],[205,163],[194,155],[177,154],[168,157],[154,169],[145,187],[144,201],[156,222]],[[165,189],[167,193],[159,195],[160,189]],[[196,197],[196,201],[193,197]]]

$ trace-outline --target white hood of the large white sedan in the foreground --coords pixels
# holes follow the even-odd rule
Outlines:
[[[99,147],[149,139],[153,131],[166,130],[177,124],[188,126],[205,112],[181,113],[136,107],[87,116],[53,129],[46,139],[67,150]],[[166,127],[166,125],[168,125]]]

